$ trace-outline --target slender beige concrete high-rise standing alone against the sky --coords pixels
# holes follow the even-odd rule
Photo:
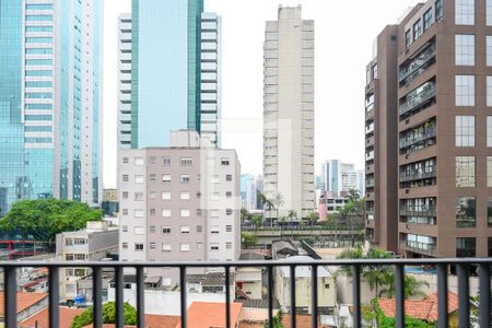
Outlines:
[[[282,195],[279,215],[301,219],[315,209],[314,21],[301,5],[280,7],[278,17],[265,31],[263,188]]]

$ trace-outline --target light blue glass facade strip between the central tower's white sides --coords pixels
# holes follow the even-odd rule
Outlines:
[[[132,1],[131,147],[168,145],[200,131],[202,0]]]

